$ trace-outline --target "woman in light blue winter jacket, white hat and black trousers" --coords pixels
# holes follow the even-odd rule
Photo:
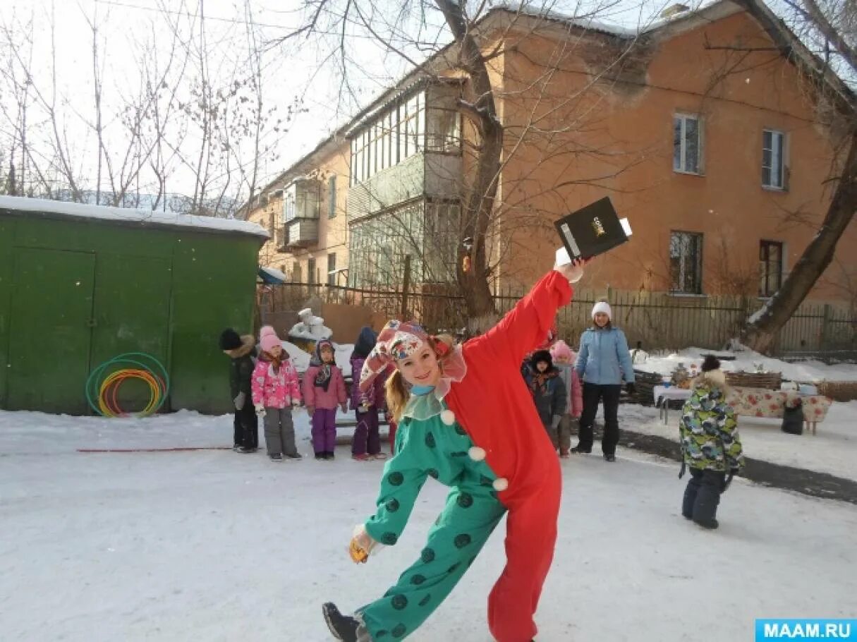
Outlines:
[[[592,308],[594,326],[580,337],[578,361],[574,365],[578,377],[584,382],[584,411],[580,416],[578,445],[572,453],[592,452],[592,426],[595,423],[598,403],[604,402],[604,437],[601,450],[604,459],[616,460],[619,443],[619,397],[622,381],[628,393],[634,392],[634,369],[628,341],[618,327],[611,323],[612,313],[606,301]]]

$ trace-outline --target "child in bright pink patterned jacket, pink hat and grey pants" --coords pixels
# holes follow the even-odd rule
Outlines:
[[[301,387],[297,370],[289,354],[271,326],[259,331],[261,354],[250,389],[256,414],[265,421],[265,446],[271,461],[301,459],[295,447],[295,424],[291,421],[291,408],[301,405]]]

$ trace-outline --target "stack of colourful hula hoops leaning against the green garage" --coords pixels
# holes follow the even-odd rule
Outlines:
[[[110,374],[105,375],[107,372]],[[141,411],[124,411],[117,401],[119,388],[129,379],[143,381],[149,388],[148,402]],[[164,405],[169,391],[170,375],[164,364],[146,352],[125,352],[101,363],[86,385],[87,403],[102,417],[148,417]]]

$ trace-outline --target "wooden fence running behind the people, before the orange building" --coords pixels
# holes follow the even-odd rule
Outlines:
[[[500,313],[524,296],[524,291],[503,290],[495,297]],[[268,298],[272,312],[298,309],[313,297],[327,303],[367,306],[388,318],[417,319],[432,331],[454,332],[465,327],[464,301],[449,286],[423,285],[407,296],[393,288],[357,289],[341,285],[289,283],[273,286]],[[613,309],[614,323],[621,327],[634,347],[645,350],[680,350],[696,346],[722,349],[738,336],[746,318],[762,302],[756,297],[710,295],[684,297],[663,292],[575,291],[574,300],[560,309],[557,327],[560,335],[576,345],[580,333],[591,326],[590,312],[599,300],[607,299]],[[782,327],[775,352],[855,351],[857,317],[848,309],[831,304],[804,303]]]

